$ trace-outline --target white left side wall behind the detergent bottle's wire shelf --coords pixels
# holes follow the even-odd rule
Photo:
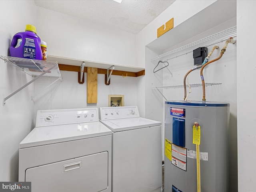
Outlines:
[[[33,1],[0,1],[0,55],[8,55],[14,34],[24,31],[26,24],[36,24],[35,14]],[[31,84],[6,100],[5,106],[2,106],[2,99],[31,79],[0,60],[0,181],[18,181],[19,143],[34,126],[34,102],[31,100],[34,86]]]

